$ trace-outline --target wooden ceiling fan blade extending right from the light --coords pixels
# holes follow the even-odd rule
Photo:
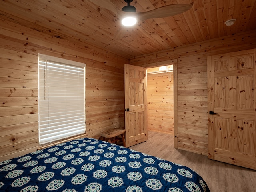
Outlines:
[[[162,6],[150,11],[136,13],[139,20],[147,20],[153,18],[163,18],[163,17],[170,17],[180,13],[183,13],[190,8],[192,8],[193,4],[172,4]]]

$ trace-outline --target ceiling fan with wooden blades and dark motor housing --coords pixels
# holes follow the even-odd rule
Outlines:
[[[124,6],[122,11],[120,11],[110,0],[92,0],[92,2],[98,4],[98,6],[107,8],[114,14],[118,15],[120,18],[133,16],[138,21],[174,16],[189,10],[193,6],[193,4],[170,4],[146,12],[136,12],[136,8],[130,5],[133,0],[124,1],[127,3],[127,6]],[[124,36],[126,30],[127,28],[125,26],[118,30],[114,36],[114,40],[121,39]]]

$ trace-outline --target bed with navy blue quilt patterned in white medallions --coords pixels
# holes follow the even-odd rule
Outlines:
[[[0,162],[0,191],[209,192],[192,169],[93,138]]]

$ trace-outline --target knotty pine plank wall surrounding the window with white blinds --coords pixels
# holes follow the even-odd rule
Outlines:
[[[86,136],[124,127],[128,60],[17,23],[0,22],[0,161],[38,148],[38,53],[86,63]]]

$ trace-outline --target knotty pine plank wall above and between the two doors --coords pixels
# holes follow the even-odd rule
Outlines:
[[[177,148],[208,155],[207,56],[252,48],[256,48],[256,30],[130,58],[130,64],[143,67],[177,59]]]

